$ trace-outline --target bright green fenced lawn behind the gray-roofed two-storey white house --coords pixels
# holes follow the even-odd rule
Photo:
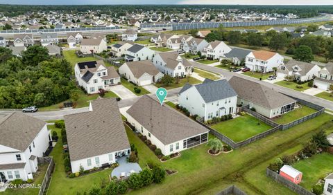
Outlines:
[[[219,122],[211,127],[223,133],[223,135],[232,139],[234,142],[246,140],[247,138],[272,128],[251,115],[242,115],[231,120]]]

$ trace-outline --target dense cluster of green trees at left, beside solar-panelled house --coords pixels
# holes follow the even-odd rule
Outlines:
[[[42,46],[31,46],[22,57],[0,48],[0,108],[49,106],[69,99],[75,90],[71,65],[65,59],[49,57]]]

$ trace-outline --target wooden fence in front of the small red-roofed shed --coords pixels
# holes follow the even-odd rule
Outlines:
[[[315,195],[314,193],[310,192],[309,190],[305,189],[304,187],[297,185],[295,183],[292,183],[290,180],[287,180],[286,178],[280,176],[278,173],[266,169],[266,176],[273,178],[273,180],[276,180],[278,183],[284,185],[285,187],[288,187],[289,189],[293,190],[293,192],[296,192],[297,194],[301,195]]]

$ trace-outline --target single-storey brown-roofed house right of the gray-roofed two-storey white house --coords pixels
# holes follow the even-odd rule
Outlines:
[[[296,100],[257,82],[234,76],[229,83],[238,95],[237,104],[249,106],[267,118],[295,109]]]

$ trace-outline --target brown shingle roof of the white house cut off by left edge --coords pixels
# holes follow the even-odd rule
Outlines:
[[[44,121],[21,112],[0,117],[0,145],[24,151],[45,124]]]

